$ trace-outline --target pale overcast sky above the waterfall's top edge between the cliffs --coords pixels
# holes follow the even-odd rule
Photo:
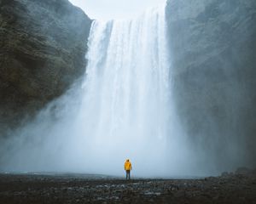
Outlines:
[[[131,19],[166,0],[69,0],[95,20]]]

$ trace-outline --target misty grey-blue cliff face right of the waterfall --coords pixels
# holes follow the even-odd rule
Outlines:
[[[195,151],[213,167],[255,164],[256,2],[169,0],[166,20],[176,110]]]

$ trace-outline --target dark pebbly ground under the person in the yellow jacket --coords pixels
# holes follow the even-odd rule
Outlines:
[[[256,203],[256,171],[126,181],[84,174],[1,174],[0,203]]]

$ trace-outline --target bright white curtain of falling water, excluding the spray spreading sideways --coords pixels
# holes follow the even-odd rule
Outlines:
[[[134,20],[93,22],[77,119],[88,163],[99,161],[111,172],[130,158],[137,172],[165,171],[171,114],[166,44],[165,7]]]

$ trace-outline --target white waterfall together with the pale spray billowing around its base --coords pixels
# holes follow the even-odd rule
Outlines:
[[[192,156],[172,105],[165,8],[94,21],[88,46],[82,89],[7,141],[2,170],[121,175],[129,158],[137,176],[190,175]],[[57,122],[49,120],[53,109]]]

